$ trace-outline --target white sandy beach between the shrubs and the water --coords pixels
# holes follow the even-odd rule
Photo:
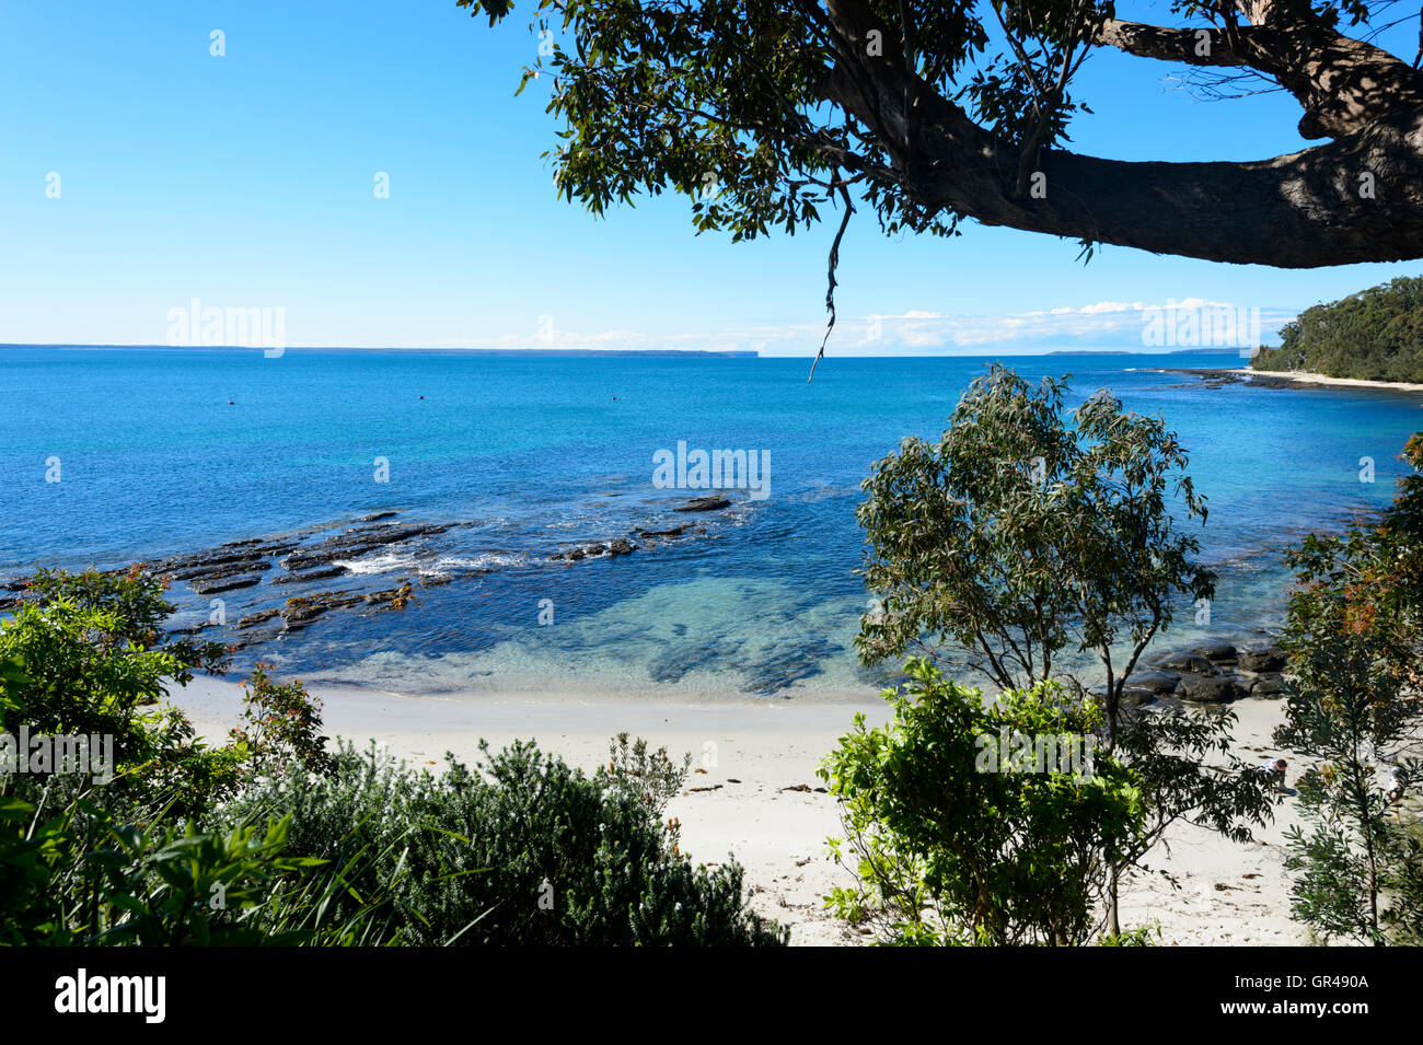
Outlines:
[[[821,758],[851,725],[855,711],[872,724],[888,719],[888,707],[867,702],[656,702],[581,700],[559,694],[511,698],[407,697],[371,690],[314,687],[324,702],[326,732],[357,744],[386,745],[413,765],[437,769],[444,752],[472,762],[480,738],[495,748],[534,738],[569,763],[592,769],[608,756],[608,741],[628,731],[692,752],[686,791],[667,812],[682,822],[683,849],[696,860],[723,862],[727,853],[746,867],[756,910],[791,927],[791,943],[854,945],[864,937],[831,918],[822,897],[848,874],[825,852],[838,835],[835,800],[815,788]],[[199,732],[225,738],[236,724],[240,687],[198,678],[174,694]],[[1239,756],[1258,761],[1276,754],[1269,732],[1281,717],[1278,701],[1245,700],[1239,715]],[[704,769],[704,772],[697,772]],[[1291,766],[1291,779],[1298,766]],[[1150,862],[1180,880],[1174,890],[1153,876],[1123,894],[1123,926],[1158,921],[1163,944],[1268,945],[1308,943],[1289,920],[1282,832],[1294,822],[1292,799],[1258,842],[1237,846],[1194,827],[1174,830],[1170,850]]]

